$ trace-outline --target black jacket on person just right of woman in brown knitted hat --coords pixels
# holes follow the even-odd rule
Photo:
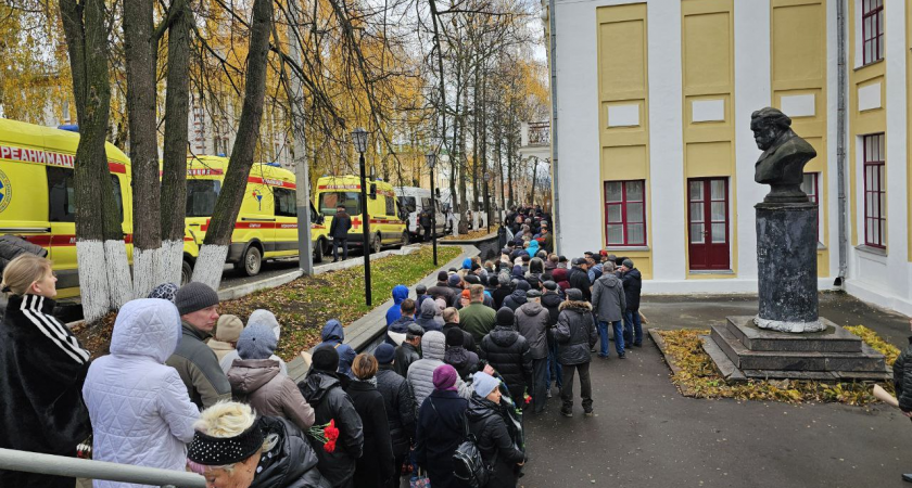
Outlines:
[[[377,372],[377,389],[383,395],[387,421],[390,424],[390,439],[393,454],[405,455],[415,438],[415,398],[408,382],[400,376],[391,364],[380,364]]]

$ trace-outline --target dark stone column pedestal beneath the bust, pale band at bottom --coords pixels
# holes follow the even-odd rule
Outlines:
[[[818,332],[818,206],[760,203],[757,209],[757,268],[761,329]]]

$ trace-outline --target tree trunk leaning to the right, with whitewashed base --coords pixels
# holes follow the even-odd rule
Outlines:
[[[235,221],[241,209],[248,176],[253,166],[253,155],[263,121],[263,101],[266,94],[266,62],[269,53],[269,33],[273,28],[273,0],[254,0],[250,27],[250,50],[246,62],[244,102],[238,123],[238,136],[231,150],[231,159],[215,203],[206,239],[200,249],[193,281],[218,290],[221,269],[228,256]]]

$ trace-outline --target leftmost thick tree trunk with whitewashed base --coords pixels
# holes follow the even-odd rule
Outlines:
[[[74,191],[83,314],[92,323],[132,296],[104,137],[111,105],[104,0],[60,0],[79,124]]]

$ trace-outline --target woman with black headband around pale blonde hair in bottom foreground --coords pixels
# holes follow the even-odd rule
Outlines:
[[[294,424],[257,418],[243,403],[220,401],[200,414],[187,467],[207,487],[318,488],[326,486],[317,454]]]

